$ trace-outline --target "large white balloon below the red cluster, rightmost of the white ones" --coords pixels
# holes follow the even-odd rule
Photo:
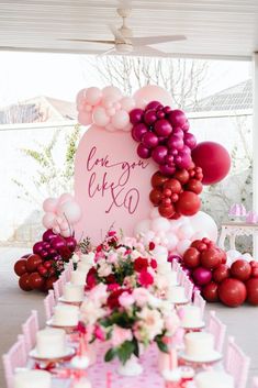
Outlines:
[[[207,237],[216,242],[217,225],[211,215],[209,215],[204,211],[199,211],[197,214],[189,217],[189,220],[195,233],[200,231],[205,231]]]

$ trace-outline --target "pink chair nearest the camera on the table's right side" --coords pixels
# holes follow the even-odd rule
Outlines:
[[[233,336],[228,337],[225,369],[234,377],[235,388],[245,388],[250,367],[250,358],[235,344]]]

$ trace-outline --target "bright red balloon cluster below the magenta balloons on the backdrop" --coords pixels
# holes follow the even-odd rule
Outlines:
[[[192,163],[189,169],[178,169],[171,177],[157,171],[152,177],[150,202],[167,219],[194,215],[201,208],[202,169]]]

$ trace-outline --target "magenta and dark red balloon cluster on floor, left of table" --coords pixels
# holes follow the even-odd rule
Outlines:
[[[24,291],[47,291],[53,288],[53,282],[64,270],[76,246],[74,237],[63,237],[47,230],[42,241],[33,245],[33,253],[22,256],[14,264],[14,271],[20,276],[20,288]]]

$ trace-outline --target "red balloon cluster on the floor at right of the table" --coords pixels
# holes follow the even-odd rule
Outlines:
[[[258,306],[258,263],[237,259],[229,267],[226,260],[226,253],[209,239],[194,241],[182,256],[184,270],[206,301]]]

